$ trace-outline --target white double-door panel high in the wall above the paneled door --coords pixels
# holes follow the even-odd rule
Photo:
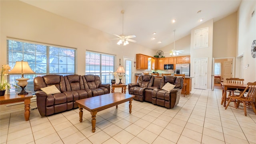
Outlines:
[[[195,30],[195,48],[208,47],[208,30],[208,27]]]

